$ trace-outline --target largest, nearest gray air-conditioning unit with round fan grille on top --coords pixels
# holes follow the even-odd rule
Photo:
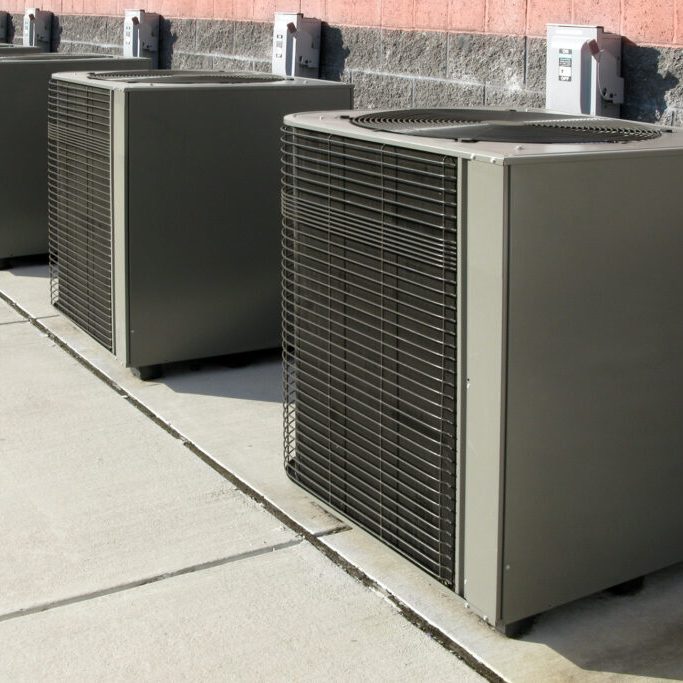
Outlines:
[[[283,159],[291,478],[506,632],[683,560],[683,133],[297,114]]]

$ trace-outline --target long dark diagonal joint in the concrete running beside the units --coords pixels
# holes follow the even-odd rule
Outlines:
[[[480,676],[485,678],[492,683],[504,683],[505,679],[501,677],[498,673],[493,671],[485,662],[478,659],[472,652],[470,652],[466,647],[460,645],[449,636],[445,631],[441,630],[438,626],[430,623],[425,619],[419,612],[407,605],[403,600],[401,600],[397,595],[386,591],[375,579],[366,574],[360,567],[352,564],[339,552],[330,548],[324,543],[322,537],[328,533],[338,533],[338,531],[346,531],[345,528],[336,527],[335,529],[327,532],[320,532],[320,534],[311,533],[301,524],[299,524],[294,518],[290,517],[287,513],[283,512],[277,508],[273,503],[271,503],[264,495],[253,489],[248,483],[241,480],[235,474],[230,472],[230,470],[223,467],[220,463],[213,460],[209,453],[203,451],[199,446],[194,444],[192,441],[187,439],[183,434],[181,434],[177,429],[171,427],[167,422],[165,422],[159,415],[151,411],[144,403],[138,399],[130,396],[128,392],[118,385],[114,380],[110,379],[101,370],[95,367],[85,356],[81,355],[75,349],[72,349],[64,340],[52,332],[49,328],[43,325],[39,319],[33,318],[27,311],[25,311],[19,304],[14,300],[10,299],[4,292],[0,291],[0,300],[5,301],[14,310],[24,316],[31,325],[36,327],[42,334],[46,335],[50,340],[54,341],[57,346],[59,346],[67,355],[71,356],[74,360],[80,363],[84,368],[90,371],[95,377],[102,380],[107,386],[113,389],[119,396],[128,401],[131,405],[137,408],[141,413],[146,415],[155,424],[165,430],[168,434],[182,442],[182,444],[196,457],[198,457],[202,462],[211,467],[215,472],[220,474],[224,479],[233,484],[238,490],[244,493],[246,496],[256,501],[263,508],[272,514],[276,519],[282,522],[289,529],[294,531],[297,536],[300,536],[303,540],[308,541],[316,550],[320,551],[325,557],[327,557],[330,562],[337,565],[340,569],[346,572],[349,576],[356,579],[359,583],[363,584],[365,587],[373,591],[381,591],[386,593],[386,600],[390,602],[397,609],[399,614],[410,624],[418,628],[420,631],[428,635],[432,640],[441,645],[445,650],[450,652],[453,656],[457,657],[459,660],[464,662],[473,671],[478,673]]]

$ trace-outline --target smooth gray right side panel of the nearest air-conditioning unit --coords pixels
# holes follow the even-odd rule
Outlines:
[[[511,171],[505,622],[683,560],[682,174]]]

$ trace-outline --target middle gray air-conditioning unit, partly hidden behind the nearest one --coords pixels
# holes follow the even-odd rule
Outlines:
[[[282,117],[351,100],[258,73],[55,77],[54,305],[143,378],[279,346]]]

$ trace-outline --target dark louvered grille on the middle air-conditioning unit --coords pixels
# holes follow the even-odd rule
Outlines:
[[[53,80],[48,107],[50,296],[112,351],[111,93]]]

